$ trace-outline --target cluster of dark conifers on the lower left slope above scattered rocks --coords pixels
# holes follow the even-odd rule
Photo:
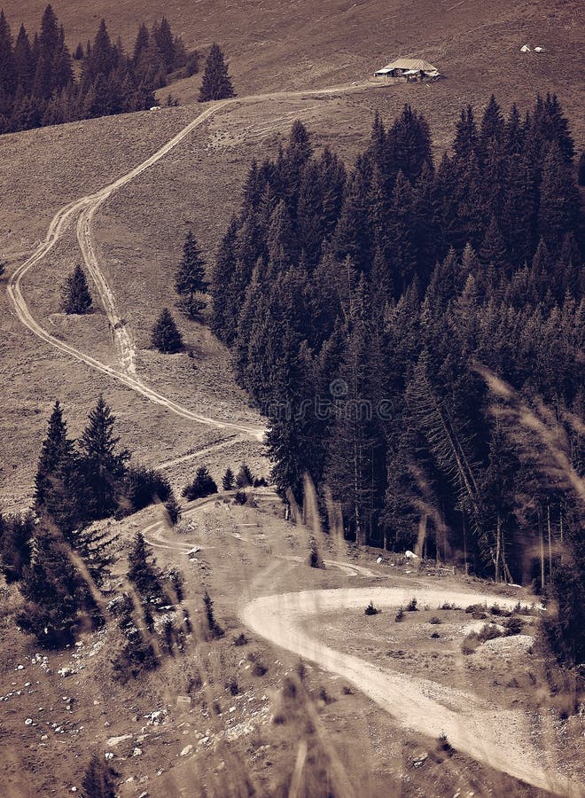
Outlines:
[[[0,515],[0,571],[7,583],[18,584],[24,599],[16,621],[46,647],[71,643],[80,630],[105,622],[103,593],[113,539],[94,521],[121,517],[154,501],[166,503],[172,522],[178,517],[168,481],[153,470],[129,465],[129,451],[120,447],[114,423],[100,396],[74,442],[55,403],[35,477],[34,512]],[[162,644],[152,648],[140,629],[152,635],[154,611],[183,599],[182,577],[176,571],[163,575],[141,536],[129,552],[128,579],[142,607],[137,625],[136,602],[128,596],[107,607],[124,636],[114,660],[121,676],[156,666],[154,648]],[[165,623],[173,625],[172,619],[162,619]],[[177,629],[173,634],[163,630],[167,648],[176,634]]]

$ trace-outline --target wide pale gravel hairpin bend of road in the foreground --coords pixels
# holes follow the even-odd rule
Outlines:
[[[397,607],[413,595],[420,604],[430,606],[439,606],[443,601],[467,606],[494,600],[493,595],[481,593],[382,587],[302,591],[254,599],[243,608],[240,617],[270,643],[351,681],[405,727],[433,738],[445,733],[457,750],[527,784],[557,794],[578,794],[577,786],[572,788],[556,774],[542,769],[530,737],[527,714],[499,710],[472,693],[378,668],[333,650],[301,628],[303,619],[320,612],[363,609],[370,599],[376,606]],[[498,598],[498,603],[511,607],[516,602]]]

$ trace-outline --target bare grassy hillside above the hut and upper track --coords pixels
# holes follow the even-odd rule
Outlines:
[[[24,20],[38,26],[46,0],[8,5],[13,26]],[[57,0],[55,11],[74,47],[95,34],[103,15],[113,37],[131,45],[140,20],[152,23],[162,13],[190,47],[205,50],[222,43],[239,94],[306,88],[361,80],[399,55],[424,56],[448,77],[460,102],[481,102],[494,90],[508,98],[527,98],[535,90],[555,90],[567,111],[579,118],[581,4],[553,0],[136,0],[82,4]],[[546,52],[522,54],[519,48],[542,44]],[[195,98],[199,78],[177,86],[183,101]],[[576,124],[576,123],[575,123]]]

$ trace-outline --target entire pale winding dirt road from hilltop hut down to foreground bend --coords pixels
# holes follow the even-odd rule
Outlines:
[[[359,89],[359,86],[347,86],[325,90],[281,92],[270,95],[267,98],[334,94],[341,91]],[[183,407],[183,405],[160,394],[136,376],[135,343],[131,332],[123,323],[121,314],[116,307],[113,292],[100,270],[91,231],[95,215],[104,202],[113,195],[113,192],[120,190],[124,185],[129,184],[130,181],[141,175],[144,170],[164,158],[175,146],[179,145],[193,130],[199,128],[214,113],[233,103],[252,102],[258,99],[258,97],[236,98],[208,106],[203,113],[200,113],[195,120],[191,121],[166,145],[136,168],[129,171],[127,175],[120,177],[94,194],[82,197],[80,200],[70,202],[65,207],[62,207],[53,217],[43,243],[12,274],[8,282],[7,291],[22,324],[39,339],[58,349],[66,356],[73,357],[90,366],[90,368],[118,380],[136,391],[137,394],[144,396],[148,401],[167,408],[183,419],[190,419],[200,424],[215,426],[261,440],[264,434],[263,428],[220,421],[191,411],[189,408]],[[98,288],[100,299],[113,330],[117,352],[115,365],[104,364],[97,358],[51,335],[51,332],[48,332],[35,319],[27,306],[27,301],[22,292],[22,280],[27,275],[27,272],[51,253],[53,247],[71,224],[76,225],[76,234],[82,250],[83,260]],[[209,500],[214,501],[216,498],[210,497]],[[204,504],[200,503],[193,507],[192,512],[195,512]],[[191,510],[188,512],[191,512]],[[176,542],[168,541],[164,537],[164,528],[160,523],[144,529],[144,533],[149,536],[152,545],[157,547],[170,549],[182,554],[187,550],[187,544],[177,544]],[[331,560],[329,564],[340,567],[346,576],[372,575],[368,569],[355,567],[348,562],[341,563]],[[411,590],[407,596],[405,591],[395,588],[286,593],[284,595],[253,599],[241,610],[241,617],[250,629],[274,645],[282,646],[353,682],[360,690],[375,700],[380,707],[391,712],[401,724],[434,737],[440,732],[445,732],[456,748],[472,755],[481,762],[488,763],[500,771],[526,781],[528,784],[549,789],[552,792],[570,794],[571,788],[569,785],[555,780],[549,773],[542,770],[531,745],[526,716],[522,713],[496,711],[494,708],[483,705],[472,694],[448,690],[448,688],[429,680],[405,677],[388,669],[379,669],[355,656],[331,649],[308,635],[302,630],[300,625],[301,620],[311,614],[333,608],[363,607],[370,599],[374,599],[378,606],[399,606],[409,599],[411,594]],[[483,594],[470,593],[458,596],[450,591],[437,590],[417,591],[416,595],[420,602],[428,604],[441,603],[445,599],[461,604],[482,603],[486,599],[493,598]],[[506,599],[498,600],[502,604],[513,603]],[[505,740],[505,746],[500,744],[502,739]]]

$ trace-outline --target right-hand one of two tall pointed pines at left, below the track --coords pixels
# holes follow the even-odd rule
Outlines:
[[[120,438],[114,435],[115,416],[103,395],[88,416],[88,424],[79,439],[82,473],[88,497],[88,519],[113,515],[129,459],[128,450],[118,450]]]

